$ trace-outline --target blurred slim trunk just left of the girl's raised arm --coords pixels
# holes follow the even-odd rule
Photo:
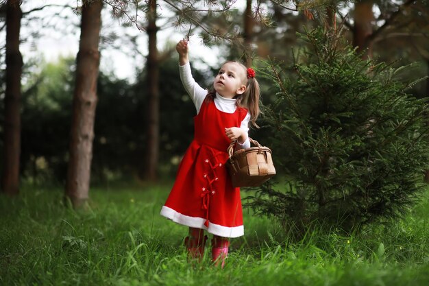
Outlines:
[[[149,99],[147,102],[147,148],[143,177],[147,180],[156,180],[159,157],[159,129],[160,129],[160,99],[158,88],[158,49],[156,48],[156,0],[149,1],[147,12],[147,36],[149,37],[149,54],[147,56],[147,88]]]

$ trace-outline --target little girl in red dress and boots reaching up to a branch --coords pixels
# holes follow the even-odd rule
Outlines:
[[[225,168],[231,141],[250,147],[247,132],[259,115],[259,84],[253,69],[238,62],[225,62],[213,81],[213,91],[201,88],[192,77],[188,42],[180,40],[180,79],[191,96],[197,115],[195,138],[179,165],[177,178],[161,215],[189,226],[185,239],[190,257],[201,260],[207,237],[212,233],[212,260],[223,267],[230,237],[244,235],[240,189],[232,187]],[[243,103],[246,106],[243,106]]]

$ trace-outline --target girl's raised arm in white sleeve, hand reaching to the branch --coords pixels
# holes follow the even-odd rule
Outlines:
[[[188,50],[188,42],[186,40],[180,40],[180,42],[177,43],[176,51],[179,53],[180,80],[182,80],[182,84],[188,95],[191,97],[198,113],[208,91],[199,86],[192,76]]]

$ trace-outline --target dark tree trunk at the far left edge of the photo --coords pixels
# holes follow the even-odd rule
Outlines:
[[[6,4],[6,90],[1,189],[8,195],[19,193],[19,156],[21,154],[21,73],[23,58],[19,51],[21,8],[19,0]]]

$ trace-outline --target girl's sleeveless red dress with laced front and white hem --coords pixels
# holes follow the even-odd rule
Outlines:
[[[218,110],[213,101],[203,102],[194,117],[194,140],[179,165],[161,215],[221,237],[244,234],[240,188],[232,187],[225,168],[230,145],[225,128],[240,127],[246,115],[245,108],[227,113]]]

